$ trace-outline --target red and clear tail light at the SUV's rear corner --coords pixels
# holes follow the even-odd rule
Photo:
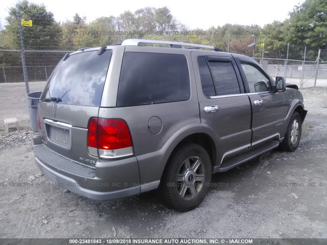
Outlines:
[[[91,155],[102,158],[133,155],[129,129],[122,119],[91,118],[87,146]]]

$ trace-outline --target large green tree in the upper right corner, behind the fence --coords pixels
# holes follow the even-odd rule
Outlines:
[[[307,46],[306,59],[315,60],[317,50],[327,48],[327,2],[306,0],[289,16],[284,22],[274,21],[262,29],[265,56],[285,59],[289,43],[291,59],[303,59]]]

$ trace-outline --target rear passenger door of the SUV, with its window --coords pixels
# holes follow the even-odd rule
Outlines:
[[[251,105],[230,54],[192,52],[204,131],[217,145],[217,164],[251,143]],[[212,53],[211,53],[212,54]]]

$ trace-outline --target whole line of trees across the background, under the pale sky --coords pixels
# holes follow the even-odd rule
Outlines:
[[[316,51],[327,48],[327,2],[306,0],[295,6],[290,18],[273,21],[263,28],[257,24],[224,24],[207,30],[189,29],[178,22],[167,7],[146,7],[135,12],[125,11],[119,16],[100,17],[90,23],[78,13],[71,20],[57,23],[44,5],[18,2],[9,9],[8,25],[4,31],[11,35],[0,36],[0,48],[20,49],[17,10],[21,18],[33,20],[33,27],[23,27],[26,50],[76,50],[81,47],[103,46],[127,38],[171,40],[213,45],[229,52],[252,56],[255,36],[255,57],[286,58],[287,44],[291,44],[293,58],[302,59],[304,47],[307,57],[315,59]],[[184,38],[182,35],[184,32]],[[313,52],[314,51],[314,52]],[[290,57],[289,57],[290,58]]]

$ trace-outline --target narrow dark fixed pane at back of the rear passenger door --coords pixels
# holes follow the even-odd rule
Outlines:
[[[204,56],[199,56],[198,64],[199,64],[199,71],[200,71],[201,86],[204,95],[206,96],[216,95],[213,78],[211,76],[209,66]]]

